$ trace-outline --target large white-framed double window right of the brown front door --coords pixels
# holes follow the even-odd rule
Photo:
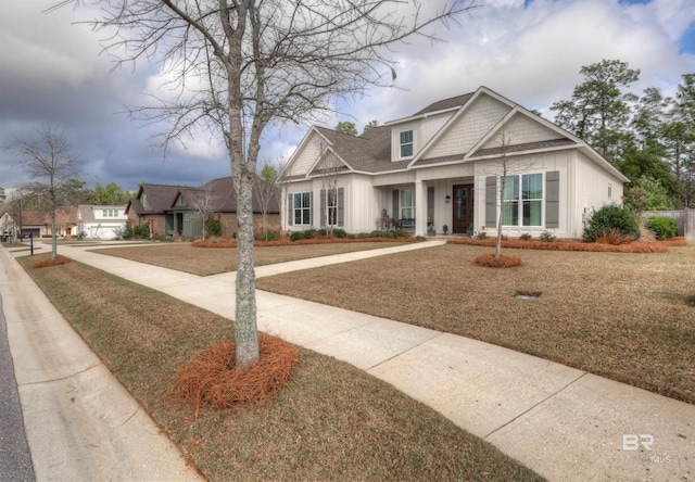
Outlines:
[[[507,176],[503,199],[503,226],[542,226],[543,174]]]

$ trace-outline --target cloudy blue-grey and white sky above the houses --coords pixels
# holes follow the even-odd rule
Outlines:
[[[152,136],[163,126],[124,114],[156,90],[160,66],[139,62],[113,71],[103,54],[103,31],[75,22],[93,16],[90,0],[74,11],[45,11],[58,0],[0,0],[0,187],[11,194],[26,182],[7,149],[29,140],[50,123],[64,132],[83,162],[79,179],[93,188],[116,182],[137,190],[141,181],[200,186],[230,175],[224,149],[207,137],[164,157]],[[444,0],[434,0],[443,3]],[[460,1],[460,0],[459,0]],[[579,71],[619,59],[641,71],[631,87],[658,87],[673,94],[682,74],[695,73],[694,0],[473,0],[479,8],[437,35],[396,46],[394,88],[370,88],[340,102],[343,114],[329,128],[353,122],[359,131],[406,117],[437,100],[485,86],[553,118],[549,106],[569,99]],[[269,128],[261,163],[286,162],[308,125]]]

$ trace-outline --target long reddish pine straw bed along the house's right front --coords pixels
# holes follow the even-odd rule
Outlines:
[[[490,246],[496,244],[495,238],[471,239],[457,238],[448,240],[448,244],[466,244],[470,246]],[[594,253],[667,253],[669,246],[685,246],[685,238],[678,237],[667,241],[641,242],[633,241],[626,244],[585,243],[580,241],[553,241],[540,240],[525,241],[520,239],[506,239],[502,241],[502,248],[515,250],[544,250],[544,251],[584,251]]]

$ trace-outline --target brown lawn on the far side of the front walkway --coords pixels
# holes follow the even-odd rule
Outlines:
[[[254,249],[255,266],[317,256],[329,256],[331,254],[352,253],[355,251],[377,250],[400,244],[403,243],[389,241],[301,244],[298,241],[291,245],[256,246]],[[192,248],[190,243],[157,243],[148,246],[111,248],[94,251],[100,254],[172,268],[198,276],[217,275],[237,269],[236,248],[203,250]]]

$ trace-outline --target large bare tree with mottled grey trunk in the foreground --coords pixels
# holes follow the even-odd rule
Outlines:
[[[64,4],[81,0],[63,0]],[[261,136],[270,123],[314,120],[341,96],[391,85],[389,49],[472,5],[418,0],[101,0],[96,28],[118,64],[161,61],[177,97],[136,117],[166,122],[163,148],[210,132],[224,140],[237,195],[237,366],[258,359],[252,188]],[[424,9],[428,9],[425,11]]]

